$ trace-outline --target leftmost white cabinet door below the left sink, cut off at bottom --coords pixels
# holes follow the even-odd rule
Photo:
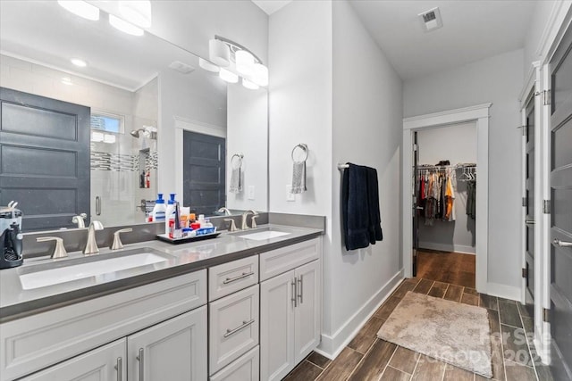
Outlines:
[[[121,381],[127,379],[125,339],[101,346],[70,360],[63,361],[25,381]]]

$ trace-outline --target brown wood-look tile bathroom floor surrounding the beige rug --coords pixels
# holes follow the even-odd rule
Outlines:
[[[535,355],[530,317],[519,302],[479,294],[472,287],[408,278],[387,298],[335,360],[312,352],[287,381],[483,381],[486,378],[377,338],[377,331],[408,291],[484,307],[492,332],[492,377],[498,381],[553,381]]]

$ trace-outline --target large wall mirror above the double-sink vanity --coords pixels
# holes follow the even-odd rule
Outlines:
[[[267,211],[264,87],[227,84],[197,55],[115,29],[105,12],[0,9],[0,205],[19,202],[24,231],[73,228],[82,212],[105,226],[144,223],[157,193],[206,216]]]

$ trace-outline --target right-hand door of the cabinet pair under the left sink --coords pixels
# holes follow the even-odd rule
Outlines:
[[[127,337],[130,381],[206,379],[206,306]]]

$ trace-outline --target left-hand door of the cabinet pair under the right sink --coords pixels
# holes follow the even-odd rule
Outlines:
[[[294,271],[260,284],[260,379],[280,380],[294,367]]]

